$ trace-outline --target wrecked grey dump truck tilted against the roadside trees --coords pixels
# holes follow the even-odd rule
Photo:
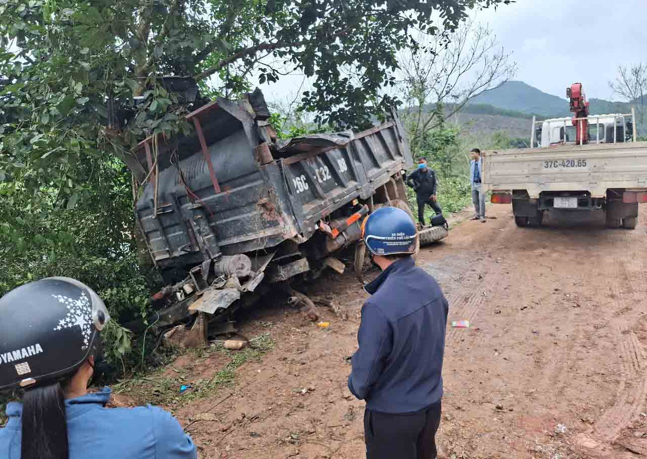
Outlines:
[[[291,140],[276,138],[269,115],[258,89],[237,102],[218,98],[186,117],[192,136],[149,137],[127,159],[140,184],[137,225],[168,283],[153,297],[158,330],[201,317],[199,334],[210,319],[231,331],[214,317],[272,285],[311,305],[292,279],[343,273],[334,253],[351,245],[361,276],[364,217],[385,205],[411,214],[402,174],[411,153],[395,110],[361,133]]]

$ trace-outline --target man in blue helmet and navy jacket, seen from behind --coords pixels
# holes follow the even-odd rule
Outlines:
[[[448,304],[415,266],[415,223],[399,208],[373,212],[364,243],[382,274],[366,285],[348,388],[366,400],[367,459],[435,459]]]

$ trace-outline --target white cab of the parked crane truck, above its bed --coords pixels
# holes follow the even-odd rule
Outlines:
[[[588,117],[588,139],[583,143],[605,144],[631,142],[633,123],[626,115],[599,115]],[[615,126],[614,126],[615,124]],[[615,133],[615,142],[613,140]],[[553,118],[544,120],[535,129],[535,141],[538,147],[578,145],[573,118]]]

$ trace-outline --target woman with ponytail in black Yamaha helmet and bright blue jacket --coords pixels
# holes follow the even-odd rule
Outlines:
[[[156,407],[107,409],[87,387],[110,320],[87,285],[47,278],[0,298],[0,390],[20,388],[0,429],[0,458],[195,459],[191,438]]]

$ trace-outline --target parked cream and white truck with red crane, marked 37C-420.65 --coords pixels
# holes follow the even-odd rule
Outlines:
[[[483,152],[483,191],[512,204],[519,227],[542,225],[546,211],[603,210],[610,228],[635,229],[647,203],[647,142],[635,110],[589,114],[581,83],[567,88],[572,118],[532,119],[530,148]]]

